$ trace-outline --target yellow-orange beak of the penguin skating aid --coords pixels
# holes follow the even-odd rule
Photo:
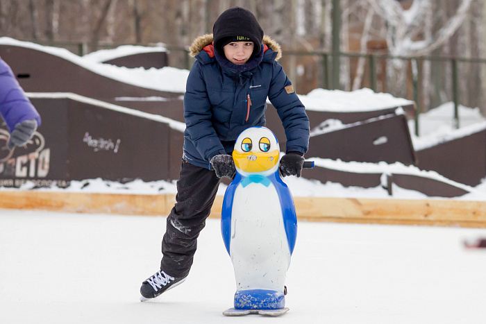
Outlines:
[[[245,172],[258,173],[267,171],[278,163],[278,150],[273,152],[248,152],[233,151],[235,166]]]

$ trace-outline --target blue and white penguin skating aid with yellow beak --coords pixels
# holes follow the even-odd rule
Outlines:
[[[233,262],[237,291],[226,316],[278,316],[285,307],[285,276],[294,250],[294,200],[278,173],[280,147],[265,127],[244,130],[233,160],[236,176],[226,188],[221,234]]]

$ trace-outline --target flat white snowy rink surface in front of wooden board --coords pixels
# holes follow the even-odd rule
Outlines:
[[[228,318],[233,265],[208,219],[181,286],[140,302],[164,216],[0,211],[0,323],[484,323],[485,229],[299,222],[290,312]]]

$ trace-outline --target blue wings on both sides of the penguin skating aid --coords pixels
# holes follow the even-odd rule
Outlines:
[[[294,199],[290,193],[290,189],[285,185],[278,170],[272,173],[266,178],[274,184],[276,188],[278,198],[280,199],[280,207],[282,208],[283,222],[285,227],[285,233],[287,234],[287,242],[289,244],[290,255],[294,252],[296,237],[297,237],[297,216],[295,212]],[[221,235],[223,237],[224,245],[230,254],[230,241],[231,241],[231,210],[233,209],[233,199],[235,198],[235,191],[240,183],[250,177],[244,177],[240,173],[236,173],[235,179],[226,188],[224,194],[223,207],[221,210]],[[265,181],[260,180],[262,185],[265,185]],[[268,187],[268,185],[267,185]]]

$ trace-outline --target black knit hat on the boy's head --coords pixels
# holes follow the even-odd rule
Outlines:
[[[263,30],[258,21],[249,10],[235,7],[221,13],[212,27],[212,41],[215,49],[223,54],[223,47],[230,42],[251,40],[255,47],[252,56],[261,51]]]

